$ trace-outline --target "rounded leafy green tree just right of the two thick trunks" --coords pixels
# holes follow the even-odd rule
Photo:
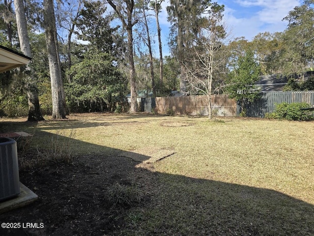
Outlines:
[[[92,102],[99,107],[106,102],[109,108],[109,104],[122,99],[127,80],[109,54],[87,52],[84,56],[69,71],[72,82],[65,86],[69,106],[75,108]]]

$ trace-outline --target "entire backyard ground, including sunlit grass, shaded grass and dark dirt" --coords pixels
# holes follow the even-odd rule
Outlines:
[[[314,122],[68,118],[0,120],[34,134],[20,180],[39,196],[0,222],[44,223],[0,235],[314,235]]]

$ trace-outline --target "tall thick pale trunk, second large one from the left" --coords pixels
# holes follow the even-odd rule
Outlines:
[[[56,26],[53,0],[44,0],[44,27],[48,51],[49,70],[52,90],[52,118],[66,118],[63,81],[61,77],[60,59],[57,49]]]

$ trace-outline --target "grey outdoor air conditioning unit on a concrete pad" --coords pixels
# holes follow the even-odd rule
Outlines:
[[[0,201],[20,194],[20,177],[16,141],[0,138]]]

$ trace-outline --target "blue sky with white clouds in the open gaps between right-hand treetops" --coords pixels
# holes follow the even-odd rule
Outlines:
[[[302,0],[217,0],[225,5],[224,20],[231,36],[244,36],[252,40],[260,32],[284,31],[288,22],[282,21],[295,6],[301,5]],[[167,21],[166,6],[169,0],[162,3],[162,12],[159,16],[163,56],[169,55],[167,38],[169,34],[169,22]],[[156,38],[157,40],[157,38]],[[158,49],[156,48],[156,57]]]

